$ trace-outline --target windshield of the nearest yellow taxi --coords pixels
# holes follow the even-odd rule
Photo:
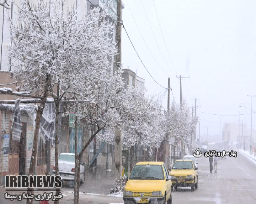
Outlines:
[[[164,171],[161,165],[135,165],[129,179],[164,180]]]

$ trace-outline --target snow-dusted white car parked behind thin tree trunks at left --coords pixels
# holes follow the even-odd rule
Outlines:
[[[53,167],[53,174],[55,174],[55,163]],[[59,175],[63,182],[75,181],[75,154],[61,153],[59,155]],[[83,163],[80,164],[80,183],[85,181],[85,169]],[[72,184],[70,184],[73,186]]]

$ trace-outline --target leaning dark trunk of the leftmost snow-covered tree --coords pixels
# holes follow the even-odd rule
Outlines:
[[[43,114],[43,109],[45,106],[45,99],[43,100],[43,103],[41,103],[38,106],[37,110],[37,116],[36,116],[36,127],[34,130],[34,140],[33,140],[33,149],[32,149],[32,155],[31,155],[31,160],[30,160],[30,168],[29,168],[29,173],[28,175],[34,176],[34,169],[36,167],[36,156],[37,156],[37,146],[38,146],[38,133],[39,133],[39,128],[40,128],[40,123],[41,123],[41,117]],[[31,181],[32,182],[32,181]],[[33,193],[32,190],[33,188],[27,188],[27,193],[31,195]],[[33,199],[32,200],[27,200],[27,204],[33,204]]]

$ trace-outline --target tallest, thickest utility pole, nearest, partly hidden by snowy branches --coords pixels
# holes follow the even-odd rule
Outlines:
[[[122,1],[117,0],[117,29],[116,29],[116,42],[118,48],[118,54],[116,56],[116,70],[121,69],[121,60],[122,60],[122,47],[121,47],[121,32],[122,32]],[[120,128],[118,127],[115,131],[115,153],[114,153],[115,167],[114,175],[117,181],[120,181],[122,176],[122,134]]]

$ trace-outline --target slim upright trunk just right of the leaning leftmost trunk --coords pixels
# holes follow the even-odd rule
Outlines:
[[[55,103],[55,176],[59,175],[59,102]],[[58,196],[60,188],[56,188],[55,195]],[[54,204],[59,204],[59,200],[55,200]]]

